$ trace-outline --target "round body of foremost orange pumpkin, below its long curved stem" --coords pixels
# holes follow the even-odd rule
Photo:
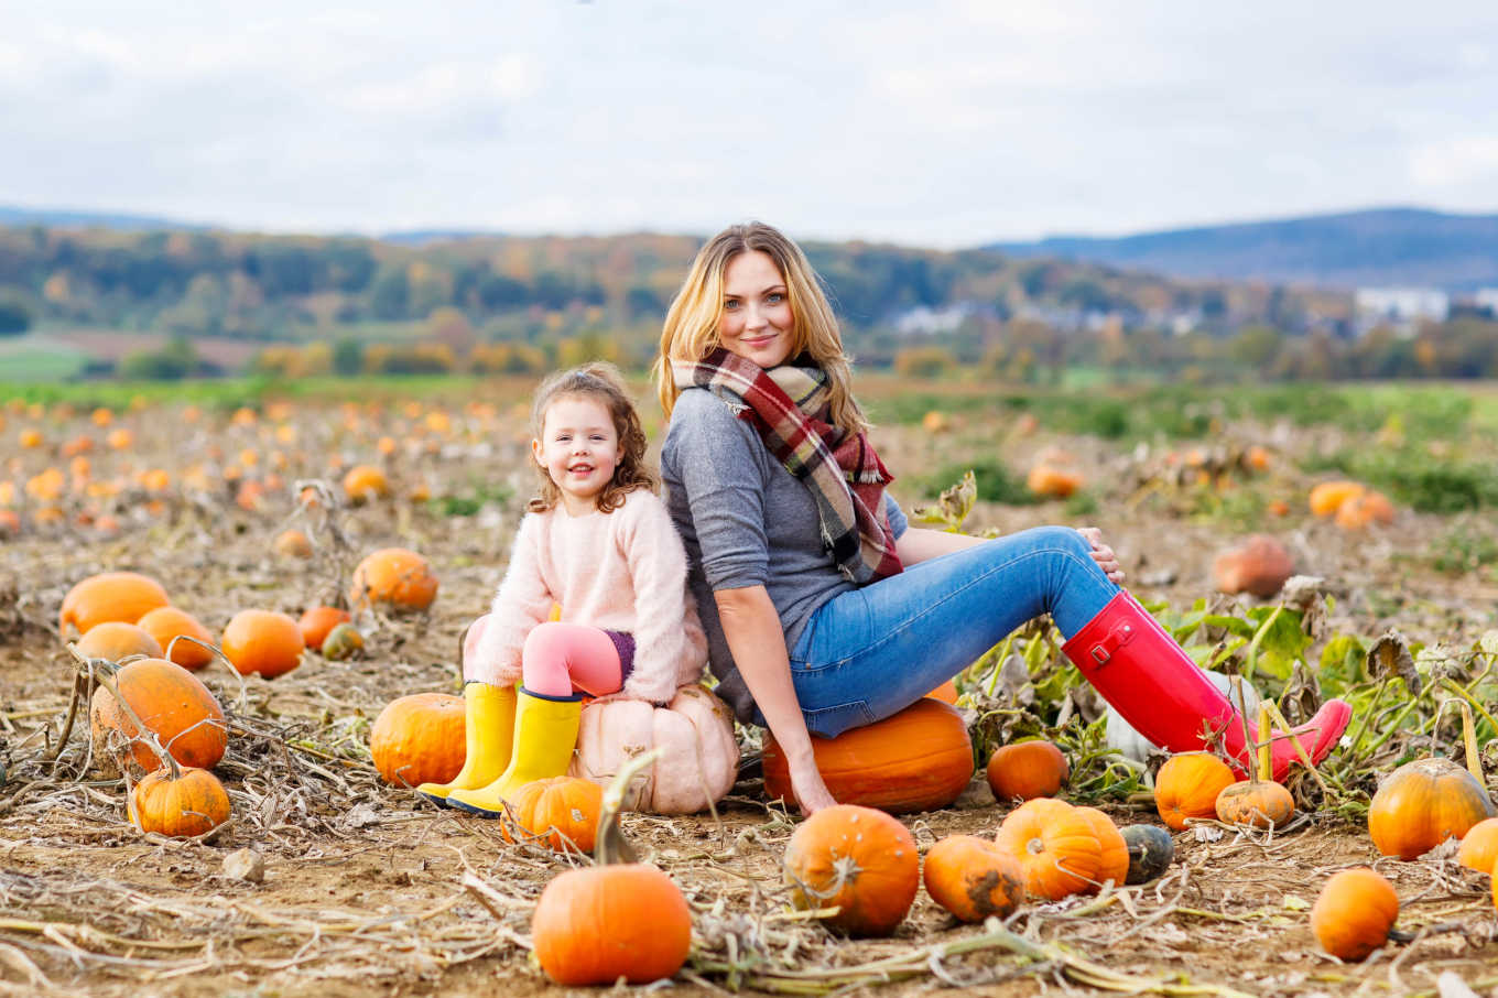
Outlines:
[[[692,949],[692,913],[670,877],[626,863],[569,869],[530,919],[536,961],[559,985],[646,985],[671,977]]]

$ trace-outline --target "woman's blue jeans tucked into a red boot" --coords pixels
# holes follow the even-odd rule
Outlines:
[[[1035,527],[827,601],[791,652],[807,730],[882,721],[1043,613],[1071,637],[1119,592],[1091,550],[1071,527]]]

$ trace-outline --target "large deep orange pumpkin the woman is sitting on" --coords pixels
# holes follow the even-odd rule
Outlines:
[[[812,736],[812,752],[834,800],[890,814],[945,808],[972,779],[968,725],[956,707],[930,697],[834,739]],[[798,803],[771,734],[764,742],[764,790],[771,800]]]

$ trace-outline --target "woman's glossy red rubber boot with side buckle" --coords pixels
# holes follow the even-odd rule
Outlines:
[[[1243,743],[1237,709],[1126,590],[1113,596],[1062,650],[1146,739],[1168,752],[1195,752],[1207,746],[1210,731],[1219,737],[1228,764],[1246,778],[1252,752]],[[1329,700],[1314,718],[1294,728],[1312,763],[1326,758],[1351,718],[1350,704]],[[1249,733],[1254,733],[1252,722]],[[1284,781],[1290,766],[1300,761],[1290,736],[1282,731],[1273,733],[1270,758],[1276,781]]]

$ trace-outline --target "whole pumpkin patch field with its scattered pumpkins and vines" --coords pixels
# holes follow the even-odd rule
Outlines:
[[[815,820],[695,686],[484,820],[413,787],[530,388],[0,390],[0,995],[1498,994],[1494,390],[867,376],[912,523],[1098,526],[1255,730],[1348,701],[1282,784],[1167,761],[1043,617],[818,743]]]

